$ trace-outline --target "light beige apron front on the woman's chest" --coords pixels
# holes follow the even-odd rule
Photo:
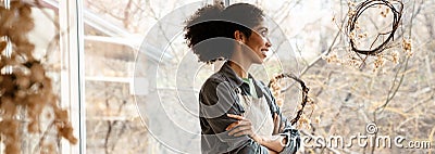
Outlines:
[[[272,137],[273,119],[265,95],[256,98],[237,93],[240,104],[245,108],[243,116],[251,120],[253,131],[263,137]]]

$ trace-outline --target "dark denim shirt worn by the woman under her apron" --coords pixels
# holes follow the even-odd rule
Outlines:
[[[248,77],[253,81],[257,97],[265,97],[268,101],[274,123],[273,134],[284,136],[287,139],[287,144],[281,153],[296,153],[300,146],[299,131],[282,115],[270,89],[262,81],[253,79],[251,75]],[[260,145],[250,137],[228,136],[228,131],[225,130],[229,124],[237,121],[237,119],[227,117],[226,114],[241,115],[245,113],[237,93],[250,94],[249,91],[249,85],[234,73],[228,62],[206,80],[199,93],[202,153],[269,153],[265,146]]]

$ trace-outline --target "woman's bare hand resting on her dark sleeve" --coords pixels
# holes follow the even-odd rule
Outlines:
[[[256,142],[262,143],[262,138],[258,136],[256,132],[253,132],[252,128],[252,123],[251,120],[239,116],[239,115],[234,115],[234,114],[227,114],[228,117],[238,119],[238,121],[232,123],[226,127],[225,130],[231,130],[228,132],[229,136],[234,137],[240,137],[244,134],[248,134],[250,138],[252,138]]]

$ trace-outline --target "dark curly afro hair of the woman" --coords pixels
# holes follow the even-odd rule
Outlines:
[[[263,11],[252,4],[236,3],[225,8],[208,4],[186,21],[184,27],[187,46],[198,55],[199,62],[213,63],[232,56],[234,33],[250,37],[254,26],[263,21]]]

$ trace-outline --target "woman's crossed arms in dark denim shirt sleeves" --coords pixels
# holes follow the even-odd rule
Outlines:
[[[207,149],[229,153],[295,153],[300,144],[299,132],[294,129],[279,112],[273,113],[275,129],[272,137],[260,137],[252,131],[251,121],[244,118],[240,106],[228,86],[211,81],[206,85],[208,92],[200,94],[201,129],[212,134],[202,144]],[[214,136],[213,136],[214,134]],[[204,149],[203,149],[204,150]],[[210,151],[215,153],[216,151]]]

